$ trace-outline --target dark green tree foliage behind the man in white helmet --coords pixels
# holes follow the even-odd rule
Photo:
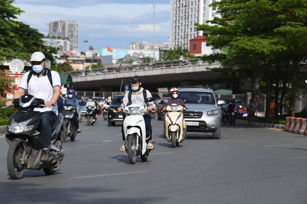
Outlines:
[[[31,54],[41,51],[55,66],[52,53],[57,53],[53,47],[44,46],[43,34],[19,21],[14,21],[22,11],[11,4],[14,0],[0,0],[0,62],[14,58],[28,61]]]

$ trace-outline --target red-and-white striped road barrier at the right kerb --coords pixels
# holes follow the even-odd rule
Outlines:
[[[307,135],[307,119],[286,117],[285,131]]]

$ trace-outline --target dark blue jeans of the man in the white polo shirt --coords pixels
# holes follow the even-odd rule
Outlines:
[[[52,130],[55,128],[56,120],[58,120],[56,113],[53,111],[42,112],[41,119],[41,139],[44,142],[44,149],[49,149],[50,138]]]

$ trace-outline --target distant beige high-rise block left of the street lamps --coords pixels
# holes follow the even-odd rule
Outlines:
[[[50,21],[49,37],[55,36],[69,40],[69,50],[78,51],[79,23],[76,21]]]

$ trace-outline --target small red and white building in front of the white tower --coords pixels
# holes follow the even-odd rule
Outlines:
[[[211,55],[213,50],[211,46],[206,46],[208,40],[204,39],[204,36],[196,36],[190,40],[189,53],[195,56]]]

